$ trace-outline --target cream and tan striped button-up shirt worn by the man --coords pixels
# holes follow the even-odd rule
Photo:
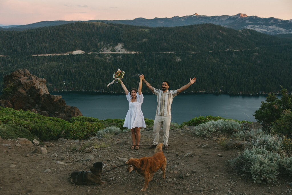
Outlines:
[[[157,95],[156,114],[160,116],[171,116],[171,103],[173,97],[178,95],[177,91],[167,90],[164,93],[161,89],[154,88],[153,94]]]

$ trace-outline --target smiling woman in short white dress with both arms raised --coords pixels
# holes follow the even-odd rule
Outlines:
[[[141,111],[141,105],[143,103],[143,94],[142,94],[142,80],[143,77],[140,77],[138,91],[137,89],[133,88],[130,92],[127,90],[126,86],[119,79],[121,85],[126,93],[127,100],[129,101],[129,110],[125,118],[125,122],[123,127],[127,127],[131,129],[132,141],[133,146],[130,149],[139,149],[139,141],[140,141],[140,128],[146,127],[144,116]],[[138,92],[138,93],[137,93]]]

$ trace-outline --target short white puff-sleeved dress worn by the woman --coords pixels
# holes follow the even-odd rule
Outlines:
[[[141,105],[143,103],[143,94],[136,94],[136,102],[131,102],[132,96],[130,92],[126,95],[129,101],[129,110],[125,118],[123,127],[133,129],[134,127],[146,127],[143,113],[141,111]]]

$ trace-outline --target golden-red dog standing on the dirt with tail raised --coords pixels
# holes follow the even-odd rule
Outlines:
[[[158,144],[156,146],[154,155],[151,157],[130,158],[128,160],[127,172],[136,170],[136,172],[142,175],[145,179],[144,187],[141,189],[141,191],[146,190],[148,183],[152,180],[154,173],[159,169],[163,171],[162,179],[165,179],[166,158],[163,154],[162,146],[162,143]]]

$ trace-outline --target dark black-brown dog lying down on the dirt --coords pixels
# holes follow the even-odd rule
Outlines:
[[[96,185],[117,183],[112,181],[114,178],[101,178],[102,168],[105,164],[102,162],[94,163],[90,171],[73,171],[71,173],[71,182],[78,185]]]

